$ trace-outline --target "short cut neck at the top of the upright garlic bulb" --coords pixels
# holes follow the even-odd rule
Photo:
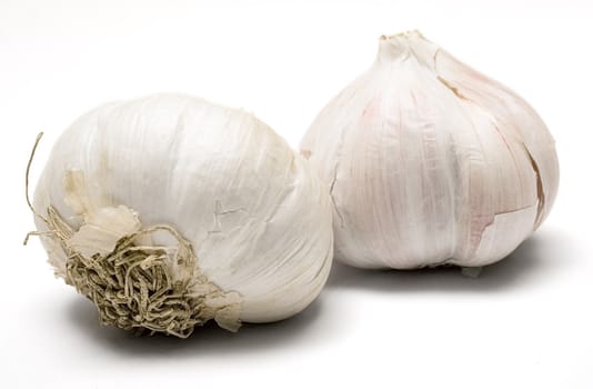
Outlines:
[[[426,40],[420,31],[406,31],[391,37],[382,36],[376,61],[390,63],[414,58],[420,64],[434,70],[434,56],[439,50],[439,46]]]

